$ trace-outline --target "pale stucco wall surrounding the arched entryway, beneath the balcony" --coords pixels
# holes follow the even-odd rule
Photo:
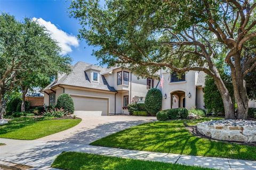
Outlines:
[[[164,72],[164,84],[162,89],[163,96],[166,94],[167,98],[164,99],[162,103],[162,109],[171,108],[171,92],[174,91],[184,91],[185,92],[185,100],[186,100],[186,108],[190,109],[195,107],[195,99],[196,99],[196,88],[195,88],[195,71],[189,71],[186,73],[186,81],[184,82],[170,82],[170,72]],[[188,93],[190,92],[191,97],[188,97]]]

